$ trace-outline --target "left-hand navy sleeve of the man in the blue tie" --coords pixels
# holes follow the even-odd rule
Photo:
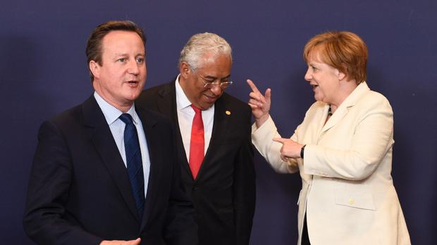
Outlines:
[[[102,239],[64,220],[72,166],[66,141],[51,121],[39,128],[23,226],[37,244],[99,244]]]

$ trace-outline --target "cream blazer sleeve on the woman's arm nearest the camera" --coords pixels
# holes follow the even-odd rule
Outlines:
[[[305,173],[346,180],[362,180],[374,173],[394,143],[393,110],[388,100],[379,94],[355,106],[361,112],[355,132],[351,132],[353,139],[350,147],[336,149],[307,145],[304,157]],[[343,121],[348,122],[350,121]]]

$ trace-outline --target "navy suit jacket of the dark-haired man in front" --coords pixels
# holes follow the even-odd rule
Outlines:
[[[127,170],[91,96],[38,133],[23,224],[37,244],[197,244],[194,208],[180,182],[168,119],[135,107],[151,160],[144,216],[138,218]]]

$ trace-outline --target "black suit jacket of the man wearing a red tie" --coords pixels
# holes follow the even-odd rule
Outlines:
[[[165,114],[179,128],[174,81],[143,91],[135,103]],[[199,244],[249,244],[255,206],[251,115],[247,104],[226,93],[216,100],[211,141],[196,180],[176,130],[178,161],[195,204]]]

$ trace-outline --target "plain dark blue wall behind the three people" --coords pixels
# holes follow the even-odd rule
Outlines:
[[[393,178],[412,243],[436,244],[435,0],[1,1],[1,244],[32,244],[21,218],[37,129],[92,93],[85,42],[113,19],[133,20],[147,32],[146,88],[176,76],[180,48],[192,34],[227,39],[234,50],[228,92],[247,101],[247,78],[270,87],[283,136],[314,100],[303,79],[306,41],[331,29],[359,34],[369,46],[368,84],[395,112]],[[256,168],[251,244],[295,244],[299,176],[274,173],[259,155]]]

